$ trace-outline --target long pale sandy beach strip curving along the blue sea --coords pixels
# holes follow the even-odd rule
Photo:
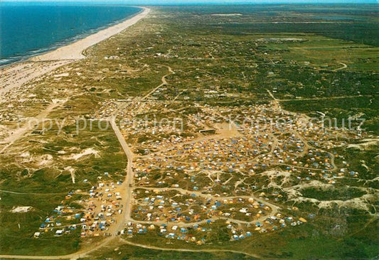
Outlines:
[[[11,98],[12,90],[17,91],[19,87],[31,82],[31,80],[35,80],[36,78],[41,77],[58,67],[72,63],[75,60],[85,58],[85,55],[82,54],[85,49],[124,31],[129,26],[134,25],[139,20],[146,17],[150,9],[142,9],[143,11],[137,13],[137,15],[132,18],[105,28],[102,31],[98,31],[86,38],[50,51],[49,53],[30,58],[25,62],[15,63],[14,65],[1,68],[0,103],[4,102],[5,99]]]

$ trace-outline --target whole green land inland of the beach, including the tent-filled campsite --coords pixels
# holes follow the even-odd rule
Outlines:
[[[8,92],[0,257],[378,256],[377,13],[154,7]]]

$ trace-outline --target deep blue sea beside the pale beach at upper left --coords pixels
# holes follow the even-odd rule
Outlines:
[[[142,9],[131,6],[6,6],[0,3],[0,65],[84,38],[139,11]]]

